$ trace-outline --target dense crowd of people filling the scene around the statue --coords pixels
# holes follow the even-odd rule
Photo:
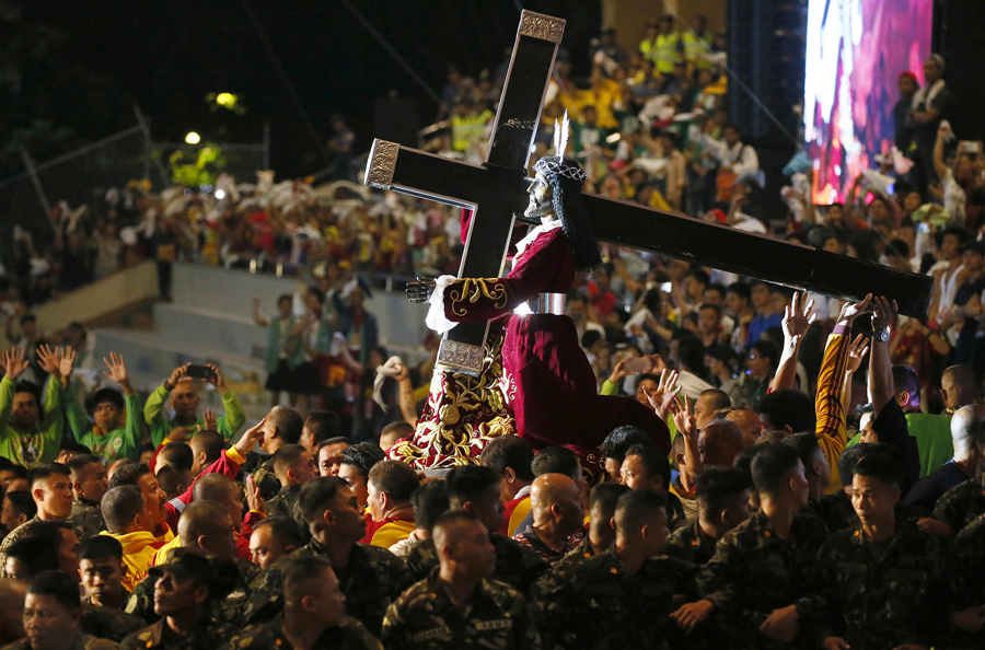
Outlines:
[[[749,211],[755,151],[721,112],[720,38],[670,19],[631,55],[614,36],[589,88],[561,57],[548,89],[545,114],[571,116],[588,188],[767,232]],[[940,57],[927,66],[943,72]],[[450,76],[433,150],[483,158],[501,72]],[[925,77],[901,128],[946,117],[943,86]],[[667,454],[652,432],[617,426],[598,469],[519,436],[429,475],[387,457],[421,417],[437,338],[424,363],[390,357],[360,271],[453,272],[456,213],[269,175],[62,210],[60,260],[21,236],[4,293],[15,347],[0,355],[0,642],[982,647],[982,156],[959,147],[947,162],[947,125],[930,128],[934,170],[900,140],[916,162],[895,194],[871,175],[823,209],[802,178],[787,191],[787,236],[932,275],[926,321],[878,287],[843,302],[614,246],[576,277],[566,313],[599,393],[636,396],[672,434]],[[82,399],[84,327],[46,337],[26,309],[76,278],[66,252],[109,232],[117,263],[317,263],[275,313],[254,305],[268,330],[262,421],[246,427],[216,364],[176,368],[144,396],[111,355]],[[205,384],[219,417],[200,408]]]

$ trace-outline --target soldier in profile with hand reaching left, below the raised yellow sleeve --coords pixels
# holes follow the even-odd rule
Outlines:
[[[808,620],[799,605],[827,527],[803,510],[808,484],[797,451],[784,443],[766,443],[752,462],[761,509],[718,542],[715,555],[698,577],[700,612],[685,627],[721,627],[746,647],[789,647],[783,639],[801,634]]]

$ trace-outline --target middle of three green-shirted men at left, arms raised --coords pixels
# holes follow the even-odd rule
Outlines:
[[[119,459],[140,460],[140,438],[143,433],[143,417],[140,397],[130,384],[123,355],[109,352],[109,359],[103,359],[109,380],[123,386],[124,394],[113,388],[97,391],[93,398],[93,420],[90,422],[85,410],[74,395],[74,387],[68,386],[65,411],[76,440],[92,450],[97,456],[113,464]],[[70,375],[66,376],[68,380]],[[127,409],[126,422],[121,423],[124,405]]]

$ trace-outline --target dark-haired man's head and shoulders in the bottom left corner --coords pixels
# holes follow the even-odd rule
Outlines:
[[[84,634],[79,624],[79,585],[61,571],[43,571],[27,584],[26,636],[16,650],[115,650],[116,643]]]

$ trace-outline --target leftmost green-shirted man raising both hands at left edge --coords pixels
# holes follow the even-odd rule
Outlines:
[[[65,352],[74,358],[74,352]],[[51,462],[61,446],[61,382],[53,376],[45,394],[44,416],[38,420],[39,391],[34,384],[18,382],[30,361],[22,348],[0,355],[5,372],[0,380],[0,456],[33,467]],[[71,370],[71,361],[68,367]]]

